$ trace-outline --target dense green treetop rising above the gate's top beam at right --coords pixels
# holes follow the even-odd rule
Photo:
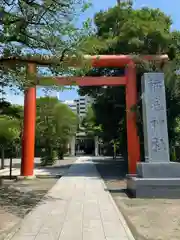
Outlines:
[[[159,9],[133,9],[121,3],[95,15],[97,35],[108,44],[107,53],[167,53],[172,41],[172,21]]]

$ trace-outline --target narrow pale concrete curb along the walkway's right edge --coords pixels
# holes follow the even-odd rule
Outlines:
[[[94,164],[93,160],[91,160],[91,161],[92,161],[92,163]],[[96,165],[95,165],[95,164],[94,164],[94,166],[95,166],[95,168],[96,168]],[[96,168],[96,170],[97,170],[97,168]],[[104,186],[104,189],[107,189],[106,184],[105,184],[103,178],[101,177],[100,173],[98,172],[98,170],[97,170],[97,173],[98,173],[99,177],[100,177],[101,180],[102,180],[102,184],[103,184],[103,186]],[[123,214],[122,214],[121,211],[118,209],[118,207],[117,207],[117,205],[116,205],[113,197],[111,196],[110,192],[107,191],[107,194],[108,194],[108,196],[109,196],[109,199],[110,199],[110,201],[111,201],[114,209],[116,210],[116,212],[117,212],[117,214],[118,214],[118,217],[119,217],[120,222],[122,223],[122,226],[124,227],[124,230],[125,230],[125,232],[126,232],[126,234],[127,234],[127,236],[128,236],[128,240],[135,240],[134,236],[132,235],[132,232],[131,232],[130,228],[128,227],[128,224],[127,224],[127,222],[126,222]]]

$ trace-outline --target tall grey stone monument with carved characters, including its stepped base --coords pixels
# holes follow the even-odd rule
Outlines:
[[[127,175],[127,188],[136,197],[180,197],[180,163],[170,162],[163,73],[142,77],[145,162]]]

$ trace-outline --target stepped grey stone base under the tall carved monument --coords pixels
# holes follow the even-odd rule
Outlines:
[[[180,198],[180,163],[139,163],[127,175],[127,190],[136,198]]]

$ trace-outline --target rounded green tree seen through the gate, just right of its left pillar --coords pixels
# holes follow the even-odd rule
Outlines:
[[[37,99],[36,145],[42,149],[42,163],[63,158],[67,143],[77,129],[77,116],[56,98]],[[58,155],[58,156],[57,156]]]

